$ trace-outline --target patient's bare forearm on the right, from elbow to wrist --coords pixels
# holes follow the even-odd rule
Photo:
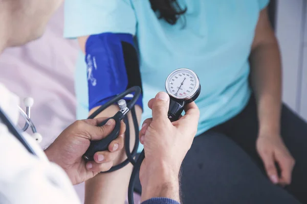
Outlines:
[[[250,62],[252,88],[258,108],[259,132],[279,135],[281,63],[277,42],[255,47]]]

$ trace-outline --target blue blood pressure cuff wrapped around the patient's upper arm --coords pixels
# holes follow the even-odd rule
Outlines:
[[[102,33],[90,36],[85,45],[89,110],[101,106],[126,89],[142,89],[139,60],[130,34]],[[142,91],[143,93],[143,91]],[[129,100],[133,94],[124,99]],[[142,95],[136,105],[143,109]]]

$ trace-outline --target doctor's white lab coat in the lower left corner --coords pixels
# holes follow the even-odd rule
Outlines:
[[[0,83],[0,107],[17,124],[19,98]],[[80,203],[65,172],[50,163],[39,145],[23,134],[39,157],[31,155],[0,121],[0,203]]]

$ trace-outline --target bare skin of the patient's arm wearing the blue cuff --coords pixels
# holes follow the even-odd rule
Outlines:
[[[78,39],[81,49],[85,50],[85,43],[88,37],[80,37]],[[92,114],[96,108],[90,111]],[[118,106],[113,105],[97,117],[111,117],[119,110]],[[142,114],[142,109],[136,106],[136,114],[138,123]],[[133,120],[131,114],[128,113],[129,126],[130,126],[130,151],[132,150],[135,142],[135,131],[133,128]],[[125,149],[119,152],[119,157],[113,163],[113,166],[121,163],[126,159]],[[129,179],[133,166],[129,163],[124,168],[110,173],[100,173],[93,179],[85,183],[85,203],[124,203],[127,195]]]

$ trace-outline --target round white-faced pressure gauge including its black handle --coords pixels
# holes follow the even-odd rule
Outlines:
[[[165,82],[166,92],[170,96],[168,118],[179,119],[184,106],[194,101],[201,92],[201,84],[195,72],[187,68],[171,72]]]

